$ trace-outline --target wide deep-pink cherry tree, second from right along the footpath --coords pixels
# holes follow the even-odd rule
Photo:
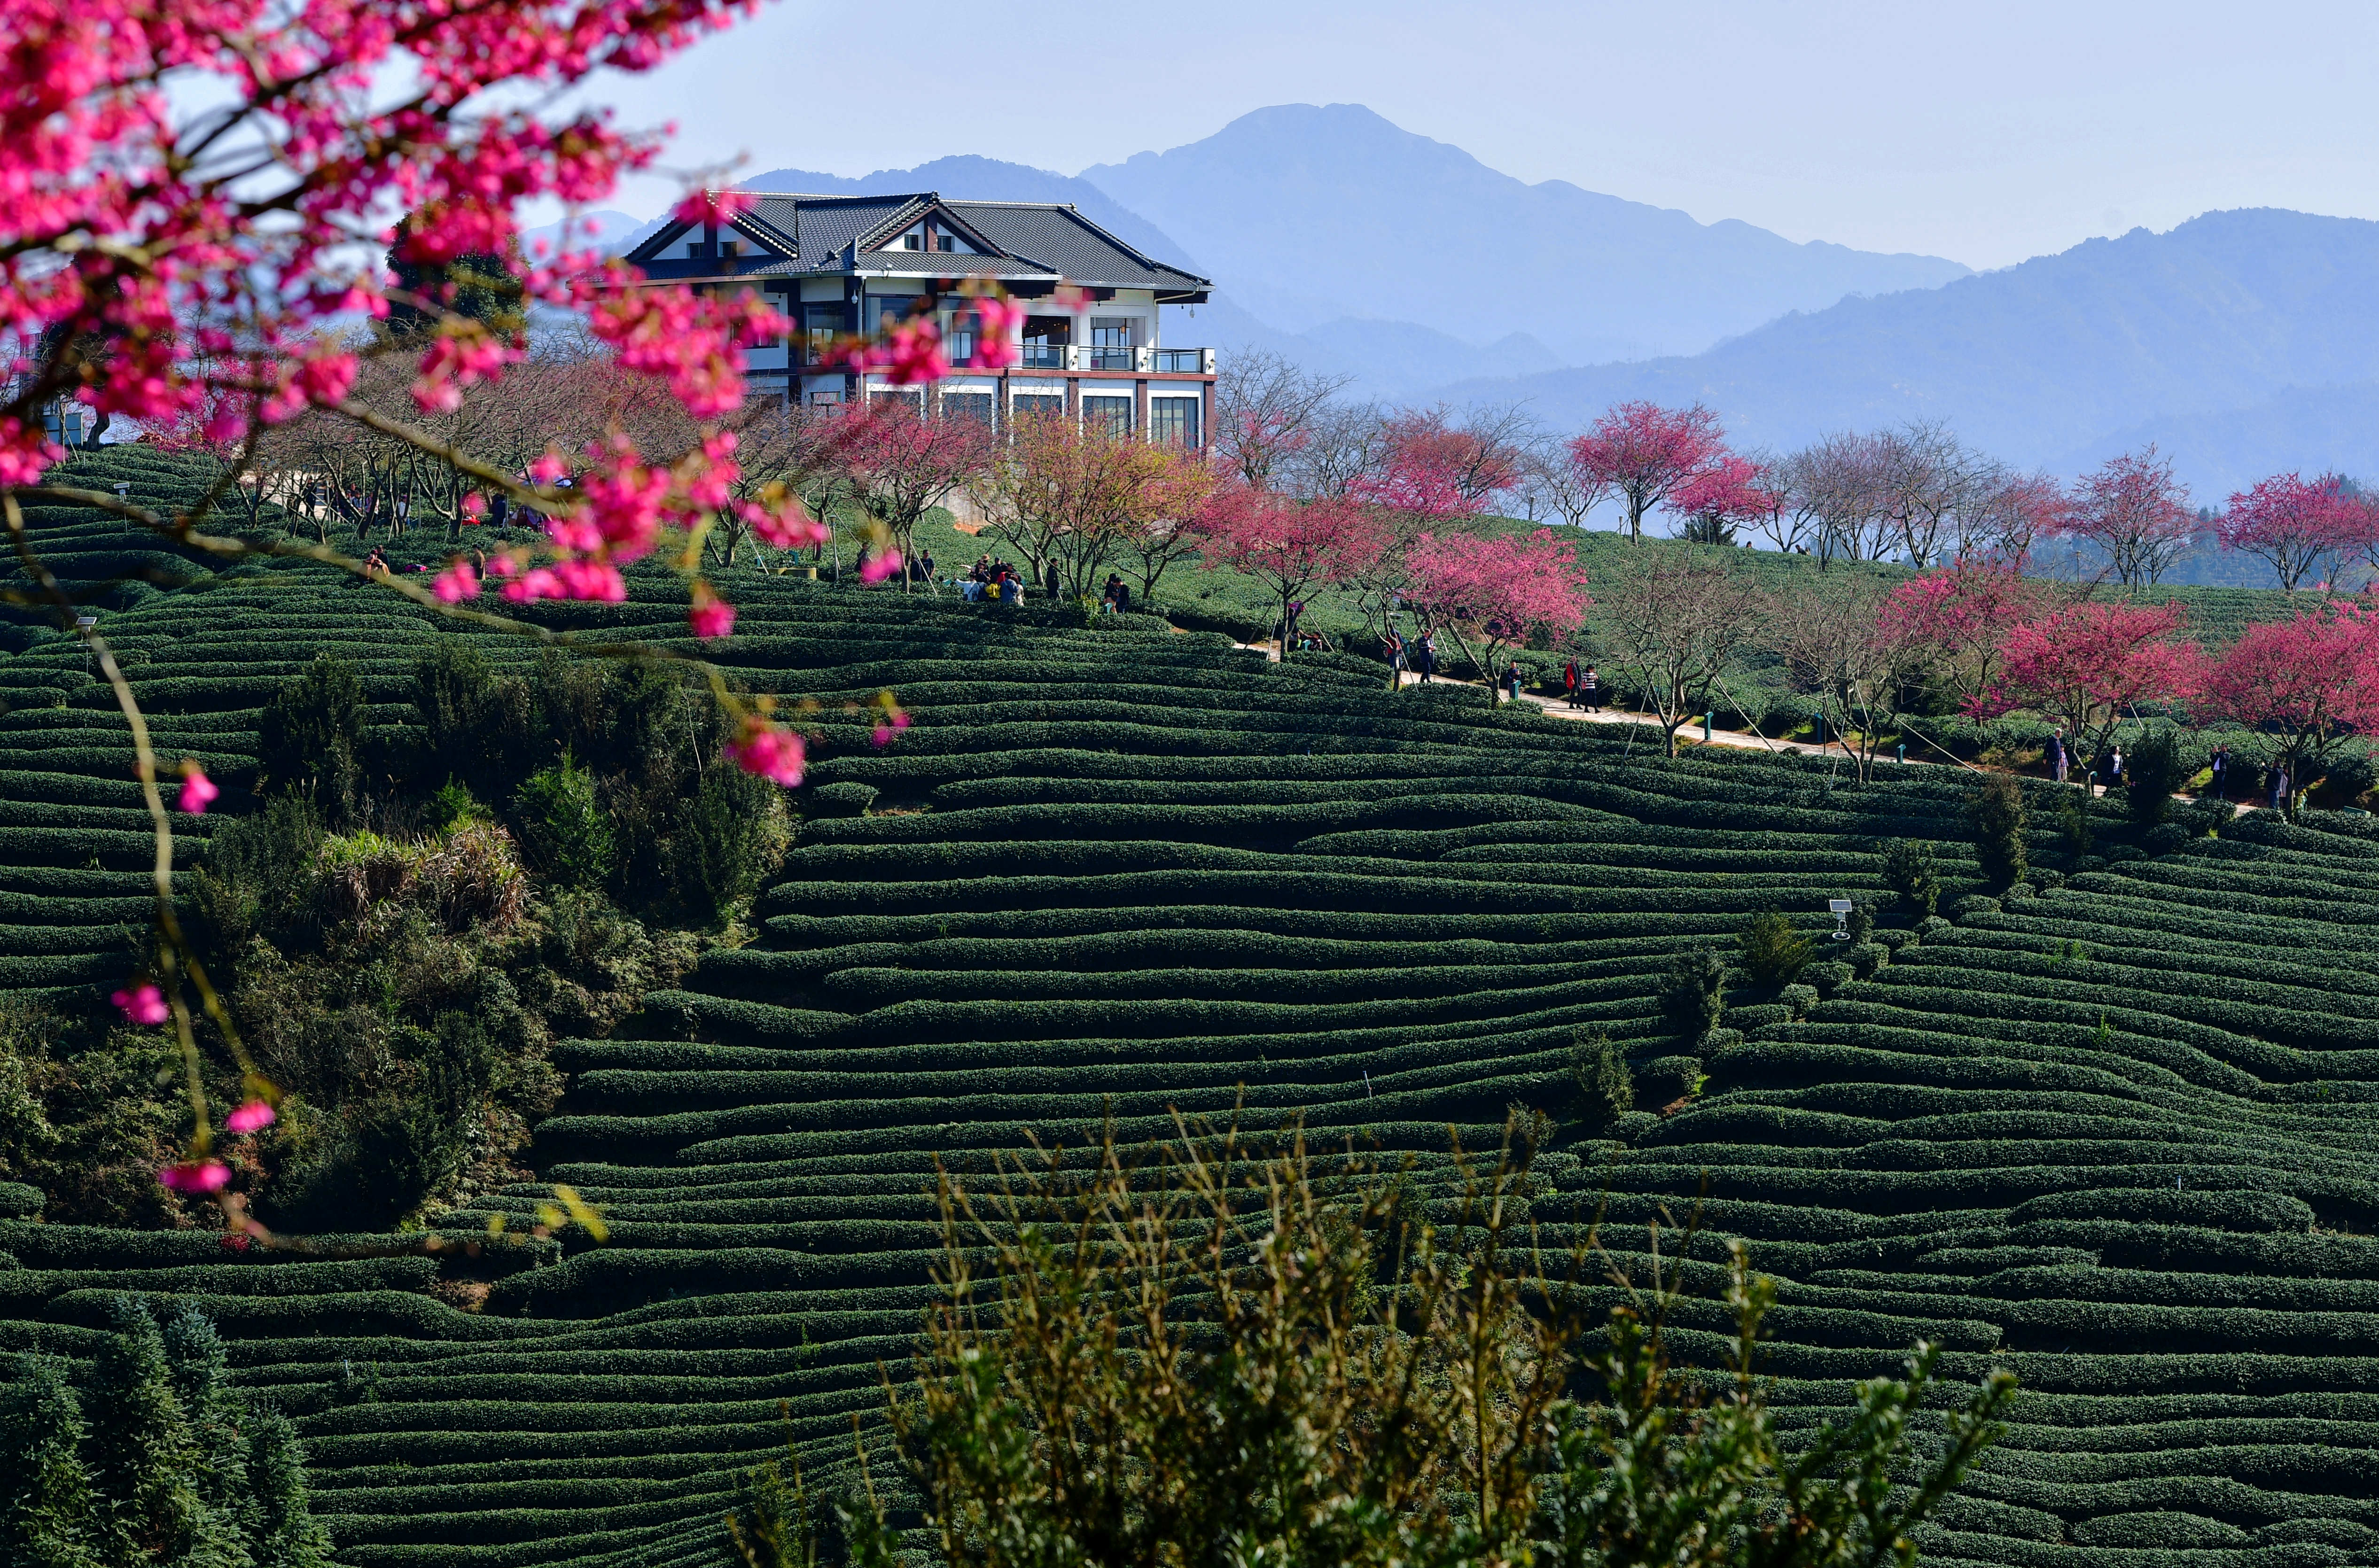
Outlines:
[[[2001,638],[1998,678],[1967,714],[2046,714],[2094,757],[2141,702],[2179,702],[2203,688],[2205,654],[2174,638],[2182,621],[2179,604],[2096,600],[2017,621]]]

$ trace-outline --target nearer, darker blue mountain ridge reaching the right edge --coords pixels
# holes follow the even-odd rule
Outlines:
[[[2262,207],[1851,297],[1703,355],[1444,393],[1525,400],[1558,426],[1627,397],[1706,402],[1739,443],[1770,447],[1939,419],[2060,473],[2158,440],[2220,500],[2274,469],[2379,471],[2379,424],[2362,416],[2374,364],[2379,224]]]

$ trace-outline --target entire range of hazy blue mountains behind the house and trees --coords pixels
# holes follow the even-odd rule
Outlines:
[[[2360,219],[2210,212],[1975,274],[1525,183],[1358,105],[1256,109],[1078,176],[961,155],[745,183],[1071,202],[1216,281],[1166,307],[1168,343],[1273,350],[1394,402],[1518,402],[1553,428],[1706,402],[1772,447],[1939,419],[2055,473],[2155,440],[2210,500],[2277,469],[2379,473]]]

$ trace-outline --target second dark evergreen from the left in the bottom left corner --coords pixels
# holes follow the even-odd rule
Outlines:
[[[90,1382],[102,1556],[124,1568],[252,1568],[238,1525],[200,1494],[202,1454],[157,1321],[136,1297],[119,1297],[114,1330]]]

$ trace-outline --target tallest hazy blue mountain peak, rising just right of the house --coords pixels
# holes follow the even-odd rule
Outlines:
[[[1475,345],[1525,333],[1568,364],[1691,355],[1789,309],[1970,276],[1941,257],[1796,245],[1568,181],[1530,186],[1361,105],[1254,109],[1082,181],[1287,333],[1382,316]]]

